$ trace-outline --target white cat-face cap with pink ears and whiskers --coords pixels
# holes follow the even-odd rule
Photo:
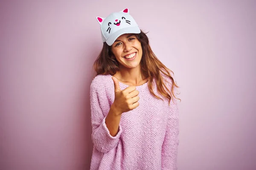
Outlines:
[[[96,17],[100,24],[102,41],[111,46],[122,34],[139,34],[140,28],[125,8],[120,12],[114,12],[106,18]]]

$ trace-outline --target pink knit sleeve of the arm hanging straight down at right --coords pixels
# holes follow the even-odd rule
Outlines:
[[[177,151],[179,144],[179,109],[177,100],[170,103],[165,139],[162,145],[162,170],[177,170]]]

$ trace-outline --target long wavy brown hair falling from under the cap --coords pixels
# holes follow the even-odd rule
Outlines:
[[[173,71],[171,71],[169,68],[163,65],[163,63],[160,62],[160,60],[155,56],[154,52],[152,51],[149,45],[149,40],[146,34],[147,33],[144,33],[142,30],[140,34],[135,34],[135,36],[141,43],[141,47],[143,51],[142,58],[140,61],[141,71],[146,77],[148,77],[148,88],[150,93],[153,96],[155,96],[157,99],[162,99],[161,97],[157,96],[153,92],[152,84],[153,84],[153,79],[155,78],[157,83],[157,91],[160,94],[162,94],[164,97],[169,99],[169,105],[170,105],[170,101],[171,99],[173,99],[172,96],[176,98],[175,89],[179,88],[179,86],[177,86],[176,82],[174,81],[173,77],[170,74],[172,73],[174,75]],[[93,64],[93,67],[96,71],[96,76],[100,74],[102,75],[111,74],[113,76],[114,74],[116,74],[116,71],[119,71],[119,63],[112,56],[113,56],[113,53],[111,51],[111,46],[109,46],[106,42],[104,42],[102,51],[100,52],[98,58]],[[163,77],[161,76],[161,73],[171,79],[171,85],[172,85],[171,91],[167,88],[166,83],[163,81]],[[169,81],[166,81],[166,82],[170,83]]]

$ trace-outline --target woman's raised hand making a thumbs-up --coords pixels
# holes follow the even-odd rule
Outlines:
[[[135,86],[129,86],[121,91],[119,87],[119,82],[116,77],[112,76],[114,87],[115,87],[115,99],[113,105],[119,114],[131,111],[137,108],[140,104],[138,100],[139,91],[136,90]]]

